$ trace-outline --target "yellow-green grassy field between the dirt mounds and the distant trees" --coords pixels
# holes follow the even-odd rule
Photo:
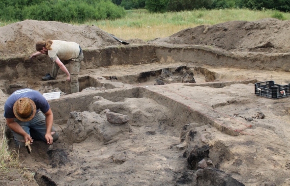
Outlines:
[[[122,39],[168,37],[182,29],[200,25],[215,25],[228,21],[255,21],[264,18],[290,20],[290,13],[274,10],[249,9],[194,10],[183,12],[148,13],[146,10],[130,10],[125,18],[117,20],[87,21]]]

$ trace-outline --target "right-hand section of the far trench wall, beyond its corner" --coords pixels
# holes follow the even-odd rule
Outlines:
[[[193,62],[209,66],[222,66],[241,69],[290,71],[290,53],[231,53],[208,47],[163,47],[155,48],[158,61]]]

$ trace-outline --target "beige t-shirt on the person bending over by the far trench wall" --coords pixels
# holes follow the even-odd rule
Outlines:
[[[60,60],[75,59],[80,54],[80,45],[75,42],[52,40],[52,50],[48,50],[48,56],[53,62],[59,58]]]

